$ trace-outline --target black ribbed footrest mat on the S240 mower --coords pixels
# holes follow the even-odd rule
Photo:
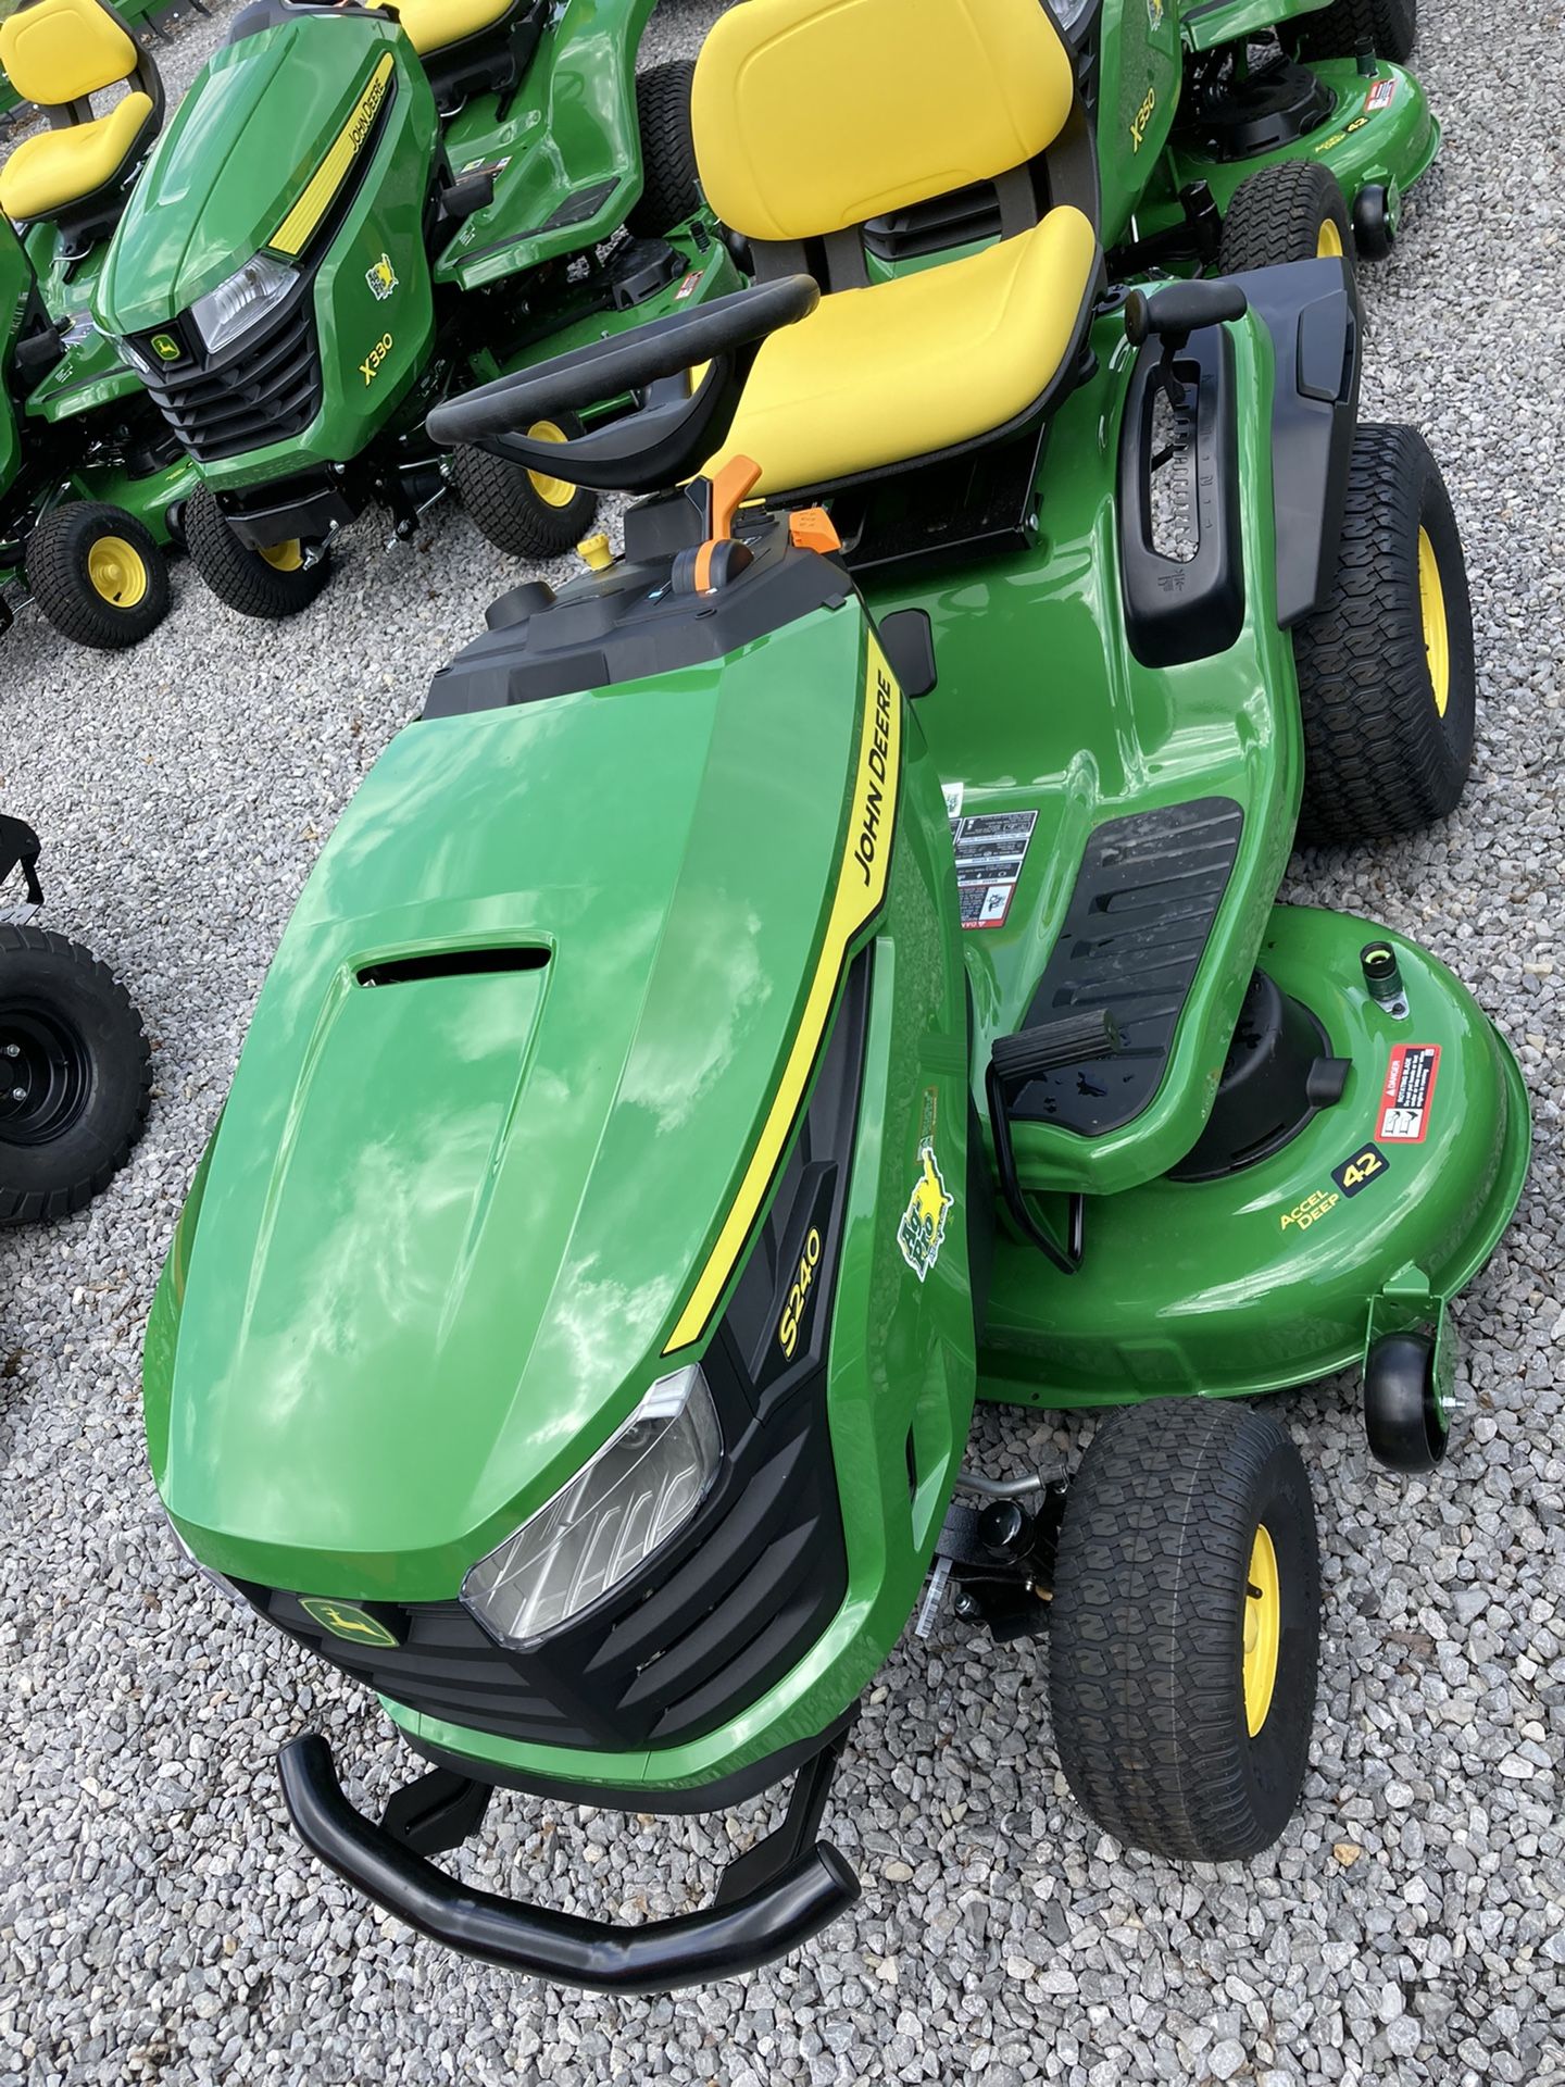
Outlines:
[[[1027,1031],[1060,1035],[1070,1016],[1112,1014],[1121,1046],[1039,1066],[1008,1085],[1012,1123],[1060,1123],[1083,1137],[1116,1131],[1162,1081],[1244,833],[1231,797],[1198,797],[1098,826]],[[1020,1037],[1018,1037],[1020,1041]],[[1004,1048],[995,1044],[995,1054]]]

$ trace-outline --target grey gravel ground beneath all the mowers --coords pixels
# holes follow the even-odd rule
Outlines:
[[[657,54],[712,4],[666,4]],[[1327,1546],[1304,1807],[1250,1870],[1125,1855],[1060,1786],[1033,1653],[947,1626],[893,1657],[830,1809],[856,1914],[797,1962],[678,1999],[547,1993],[413,1939],[284,1826],[278,1745],[321,1724],[361,1784],[405,1772],[371,1705],[215,1609],[142,1461],[140,1329],[288,908],[342,803],[503,561],[459,513],[361,524],[313,616],[219,609],[188,568],[140,651],[4,641],[0,795],[46,835],[54,927],[129,981],[156,1041],[131,1169],[0,1240],[0,2079],[1557,2081],[1565,1453],[1559,1290],[1565,467],[1561,15],[1427,6],[1446,157],[1369,273],[1369,409],[1425,428],[1473,572],[1484,712],[1459,818],[1300,864],[1298,893],[1436,947],[1521,1048],[1538,1158],[1463,1306],[1469,1423],[1436,1484],[1367,1467],[1346,1386],[1294,1405]],[[184,88],[221,23],[159,52]],[[991,1457],[1066,1434],[985,1421]],[[724,1822],[497,1801],[467,1874],[580,1910],[709,1889]]]

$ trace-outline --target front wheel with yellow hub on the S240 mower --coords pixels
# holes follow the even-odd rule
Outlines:
[[[1173,1862],[1239,1862],[1294,1814],[1321,1634],[1315,1503],[1267,1413],[1154,1398],[1070,1482],[1050,1697],[1077,1803]]]

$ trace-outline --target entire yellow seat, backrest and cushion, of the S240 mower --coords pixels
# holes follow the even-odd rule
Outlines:
[[[1070,54],[1039,0],[745,0],[695,69],[701,186],[757,273],[818,267],[860,227],[979,182],[1022,184],[1070,123]],[[1043,161],[1048,165],[1048,161]],[[772,255],[766,255],[766,248]],[[983,253],[830,288],[760,351],[728,442],[760,493],[828,486],[1018,419],[1070,353],[1102,269],[1056,205]],[[849,275],[851,280],[851,275]]]

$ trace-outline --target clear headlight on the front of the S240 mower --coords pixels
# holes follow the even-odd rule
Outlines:
[[[597,1457],[472,1567],[463,1603],[501,1645],[534,1645],[684,1528],[720,1457],[699,1365],[659,1377]]]

